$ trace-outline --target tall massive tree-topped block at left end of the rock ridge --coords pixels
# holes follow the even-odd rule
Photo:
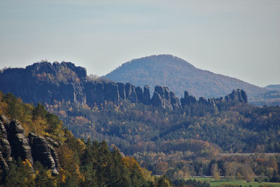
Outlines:
[[[71,62],[41,62],[25,69],[6,69],[0,74],[0,89],[29,103],[52,103],[63,99],[85,104],[81,84],[85,78],[85,68],[76,67]]]

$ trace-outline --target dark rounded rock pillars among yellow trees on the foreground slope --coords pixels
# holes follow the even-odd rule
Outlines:
[[[3,115],[0,116],[0,131],[0,165],[4,172],[9,169],[8,162],[21,158],[29,160],[31,165],[34,161],[41,162],[44,167],[52,170],[52,174],[58,174],[60,165],[57,152],[47,139],[33,133],[25,137],[25,130],[18,120],[9,121]]]

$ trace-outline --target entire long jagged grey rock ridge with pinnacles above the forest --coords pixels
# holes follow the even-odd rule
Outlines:
[[[181,100],[161,85],[155,86],[153,97],[150,96],[148,85],[142,89],[131,83],[114,83],[104,80],[90,81],[87,79],[86,70],[76,67],[71,62],[41,62],[35,63],[25,69],[6,69],[0,73],[0,90],[4,93],[12,92],[16,97],[21,97],[24,102],[38,102],[52,104],[56,101],[65,101],[78,104],[102,104],[114,102],[118,104],[121,99],[134,103],[151,104],[165,109],[201,104],[217,107],[218,104],[228,102],[248,102],[244,90],[234,90],[225,99],[206,99],[185,95]]]

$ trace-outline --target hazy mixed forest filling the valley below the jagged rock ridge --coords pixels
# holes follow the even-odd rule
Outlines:
[[[133,155],[153,174],[167,174],[171,179],[212,175],[212,160],[222,159],[218,153],[280,152],[279,106],[224,104],[217,110],[194,105],[169,110],[126,101],[92,107],[70,102],[45,106],[57,113],[76,137],[105,139],[125,155]],[[279,158],[272,157],[279,165]],[[279,167],[271,169],[252,159],[251,176],[263,174],[268,180],[276,179],[272,174],[279,174]],[[226,175],[222,165],[217,165],[216,170]],[[255,165],[263,167],[262,172]],[[237,172],[242,179],[246,177],[241,167],[235,169],[235,175]]]

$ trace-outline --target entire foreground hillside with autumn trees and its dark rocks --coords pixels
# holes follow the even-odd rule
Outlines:
[[[1,186],[170,186],[106,141],[76,139],[41,104],[0,92],[0,115]]]

